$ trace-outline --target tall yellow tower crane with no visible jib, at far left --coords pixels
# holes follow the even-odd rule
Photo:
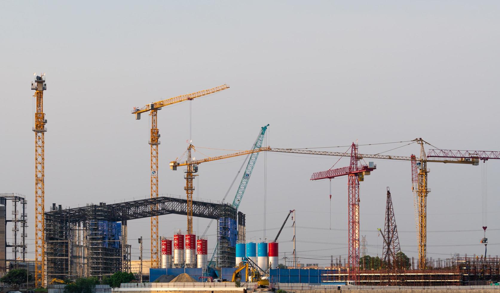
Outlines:
[[[36,74],[35,74],[36,75]],[[34,113],[34,283],[36,287],[43,286],[45,282],[45,221],[43,212],[45,211],[45,113],[43,113],[43,90],[47,89],[45,83],[45,73],[36,75],[31,82],[31,89],[34,89],[36,109]]]

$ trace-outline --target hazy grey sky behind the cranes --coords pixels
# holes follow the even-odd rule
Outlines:
[[[149,196],[148,116],[135,120],[130,110],[223,83],[230,88],[192,101],[197,147],[248,149],[269,123],[266,142],[273,147],[422,137],[440,148],[500,150],[499,14],[498,1],[1,1],[0,192],[29,199],[31,258],[30,82],[40,71],[47,83],[47,209],[52,202],[77,206]],[[158,128],[159,192],[185,196],[182,168],[171,171],[168,162],[187,146],[189,104],[162,109]],[[359,152],[403,144],[360,146]],[[418,152],[411,144],[385,153]],[[222,199],[241,159],[201,164],[194,195]],[[332,180],[331,230],[328,180],[309,181],[337,159],[267,154],[266,236],[274,238],[288,210],[296,209],[300,262],[324,265],[330,254],[346,257],[347,178]],[[381,254],[376,228],[383,227],[390,186],[401,248],[416,256],[409,162],[375,162],[377,169],[360,184],[368,254]],[[341,159],[335,166],[347,164]],[[260,154],[240,205],[247,239],[263,237],[265,165]],[[483,253],[481,166],[429,168],[428,256]],[[500,161],[490,160],[491,254],[500,248],[498,176]],[[195,220],[195,230],[202,232],[207,222]],[[160,234],[171,236],[185,225],[185,216],[161,216]],[[280,256],[291,254],[286,226]],[[211,249],[215,224],[208,234]],[[148,218],[129,224],[134,257],[141,235],[149,238]]]

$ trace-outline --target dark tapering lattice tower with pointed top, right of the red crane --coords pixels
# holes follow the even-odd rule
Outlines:
[[[392,207],[392,198],[390,190],[387,187],[387,201],[385,204],[385,225],[383,229],[383,249],[382,259],[387,268],[387,281],[390,282],[395,277],[396,269],[398,268],[397,253],[401,251],[399,247],[399,238],[397,236],[396,219],[394,217],[394,209]]]

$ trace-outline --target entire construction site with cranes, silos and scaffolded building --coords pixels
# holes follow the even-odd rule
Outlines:
[[[149,273],[143,273],[143,257],[140,257],[141,269],[138,273],[140,281],[149,277],[152,282],[161,275],[178,275],[189,271],[189,275],[203,280],[219,279],[234,281],[236,275],[242,281],[259,283],[267,281],[267,286],[279,283],[320,283],[320,284],[351,284],[351,285],[395,285],[395,286],[449,286],[449,285],[489,285],[500,281],[500,259],[498,256],[486,254],[488,239],[486,226],[483,226],[484,254],[481,255],[451,255],[449,258],[432,259],[426,253],[427,229],[427,185],[428,163],[479,165],[487,160],[500,158],[500,151],[482,150],[448,150],[425,149],[431,145],[422,138],[410,140],[420,146],[418,155],[398,156],[388,154],[364,154],[358,152],[358,144],[352,142],[346,152],[325,150],[273,148],[264,145],[266,124],[258,130],[252,148],[218,156],[207,156],[195,159],[192,152],[195,146],[188,141],[188,146],[181,157],[170,161],[171,170],[182,168],[184,172],[185,197],[160,196],[158,194],[158,153],[160,134],[157,125],[158,110],[165,106],[210,95],[228,89],[222,84],[210,89],[167,98],[143,107],[133,107],[131,113],[135,119],[141,114],[149,114],[149,145],[150,145],[150,194],[149,198],[122,201],[86,203],[81,207],[66,207],[63,203],[52,203],[45,210],[44,193],[44,134],[47,130],[45,113],[43,111],[43,93],[46,90],[44,74],[36,75],[31,89],[35,90],[36,112],[34,113],[35,134],[35,286],[45,286],[54,279],[75,279],[78,277],[97,277],[102,279],[117,271],[131,272],[132,243],[128,237],[127,221],[146,218],[150,220],[150,253]],[[275,238],[266,240],[247,240],[245,214],[239,210],[240,203],[247,184],[250,181],[254,165],[261,152],[280,152],[324,157],[347,157],[349,164],[343,167],[330,168],[314,172],[309,180],[347,178],[347,251],[342,256],[333,257],[329,266],[319,267],[317,264],[304,266],[297,261],[295,241],[295,209],[290,210]],[[193,199],[194,179],[197,176],[198,165],[237,156],[246,156],[234,181],[239,180],[239,186],[232,200],[204,201]],[[414,204],[415,231],[417,235],[417,257],[411,260],[402,253],[397,232],[397,225],[392,203],[390,188],[385,190],[385,222],[378,233],[383,239],[382,257],[370,257],[366,254],[364,236],[360,235],[360,200],[359,183],[363,182],[371,172],[377,171],[377,164],[365,159],[407,161],[411,174],[411,194]],[[409,181],[409,180],[408,180]],[[408,184],[409,185],[409,184]],[[231,184],[232,186],[232,184]],[[15,260],[24,262],[26,254],[26,204],[23,196],[1,194],[2,206],[6,201],[12,201],[12,219],[6,218],[3,211],[3,226],[10,221],[13,224],[13,243],[3,248],[4,271],[7,270],[5,248],[11,247],[13,263]],[[5,208],[4,208],[5,209]],[[158,216],[178,214],[186,216],[186,228],[177,229],[171,236],[159,236],[161,223]],[[193,218],[210,219],[201,235],[193,233]],[[289,221],[288,221],[289,219]],[[206,233],[212,227],[216,231],[216,243],[208,243]],[[290,225],[291,224],[291,225]],[[278,237],[283,227],[293,228],[293,250],[291,261],[279,250]],[[19,231],[19,228],[21,229]],[[5,229],[3,230],[3,238]],[[142,255],[142,237],[138,239]],[[214,244],[212,253],[208,254],[209,244]],[[18,257],[19,256],[19,257]],[[284,261],[283,261],[284,260]],[[12,262],[12,261],[11,261]],[[284,262],[285,265],[280,263]],[[15,265],[15,264],[14,264]],[[239,276],[246,269],[245,276]],[[250,273],[251,272],[251,273]],[[255,279],[256,277],[256,279]]]

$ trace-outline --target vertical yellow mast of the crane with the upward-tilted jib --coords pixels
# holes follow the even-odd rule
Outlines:
[[[152,109],[151,115],[151,198],[158,197],[158,144],[159,133],[156,124],[158,110]],[[157,205],[151,205],[152,210],[156,210]],[[159,267],[158,260],[158,216],[152,216],[151,220],[151,267]]]

